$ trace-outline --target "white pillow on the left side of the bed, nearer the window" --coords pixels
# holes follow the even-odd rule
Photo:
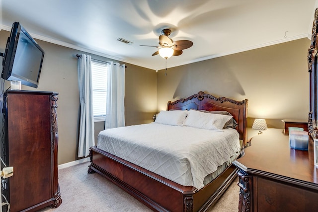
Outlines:
[[[187,110],[162,110],[158,114],[155,123],[183,126],[185,117],[188,115]]]

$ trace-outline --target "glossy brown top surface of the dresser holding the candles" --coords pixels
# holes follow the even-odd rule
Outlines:
[[[313,141],[309,141],[308,148],[308,151],[290,148],[288,134],[271,128],[253,137],[251,146],[244,149],[244,156],[234,164],[247,173],[262,172],[318,184]]]

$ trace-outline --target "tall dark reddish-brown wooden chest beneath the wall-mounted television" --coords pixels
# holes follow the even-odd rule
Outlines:
[[[58,183],[57,93],[7,90],[1,157],[13,166],[2,190],[10,212],[37,211],[62,203]]]

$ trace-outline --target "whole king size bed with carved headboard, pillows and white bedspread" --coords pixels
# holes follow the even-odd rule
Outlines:
[[[104,130],[90,148],[97,172],[154,211],[206,211],[236,177],[247,99],[200,91],[169,101],[154,123]]]

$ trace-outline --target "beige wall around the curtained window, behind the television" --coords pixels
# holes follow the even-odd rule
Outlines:
[[[0,52],[4,52],[9,34],[8,31],[0,31]],[[78,159],[79,86],[76,54],[83,52],[41,40],[37,40],[37,42],[45,51],[37,90],[59,93],[57,101],[58,164],[63,164]],[[92,58],[114,61],[96,55],[92,55]],[[126,66],[126,125],[151,122],[153,114],[157,111],[157,73],[131,64],[126,64]],[[8,83],[6,83],[5,88],[7,87]],[[22,89],[35,90],[35,88],[23,85]],[[95,123],[95,137],[103,129],[103,126],[104,122]]]

